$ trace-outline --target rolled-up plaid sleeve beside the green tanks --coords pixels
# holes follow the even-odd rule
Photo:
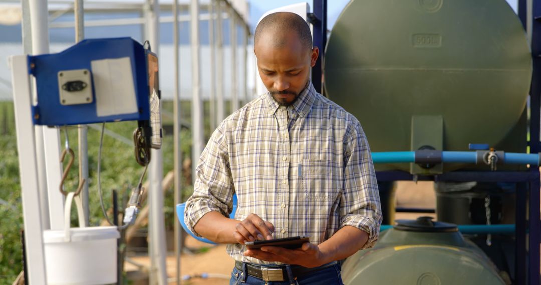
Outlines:
[[[361,249],[371,248],[379,236],[381,205],[370,147],[357,121],[349,126],[344,144],[340,228],[352,226],[363,230],[368,234],[368,241]]]

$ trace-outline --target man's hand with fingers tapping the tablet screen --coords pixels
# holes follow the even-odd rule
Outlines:
[[[263,221],[256,214],[250,214],[248,218],[237,223],[235,229],[233,237],[241,245],[244,245],[248,241],[272,240],[272,234],[274,232],[272,223]]]

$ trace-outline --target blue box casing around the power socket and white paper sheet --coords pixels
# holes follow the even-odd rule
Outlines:
[[[29,73],[36,78],[37,105],[32,107],[35,125],[64,126],[113,121],[149,120],[147,53],[131,38],[86,39],[71,48],[51,55],[29,56]],[[96,94],[93,103],[63,106],[58,90],[58,72],[87,69],[92,74],[94,60],[129,58],[137,112],[97,117]],[[94,79],[91,77],[94,86]]]

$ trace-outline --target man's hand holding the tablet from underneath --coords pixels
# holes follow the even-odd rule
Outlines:
[[[317,246],[309,242],[304,243],[300,249],[293,250],[272,246],[262,247],[260,250],[249,249],[244,256],[269,262],[296,264],[306,268],[314,268],[330,262],[325,260],[324,254]]]

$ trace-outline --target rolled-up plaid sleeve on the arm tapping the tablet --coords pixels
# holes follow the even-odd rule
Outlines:
[[[219,212],[229,218],[233,211],[234,187],[223,126],[210,138],[195,170],[194,193],[186,202],[184,222],[196,236],[195,225],[204,215]]]

